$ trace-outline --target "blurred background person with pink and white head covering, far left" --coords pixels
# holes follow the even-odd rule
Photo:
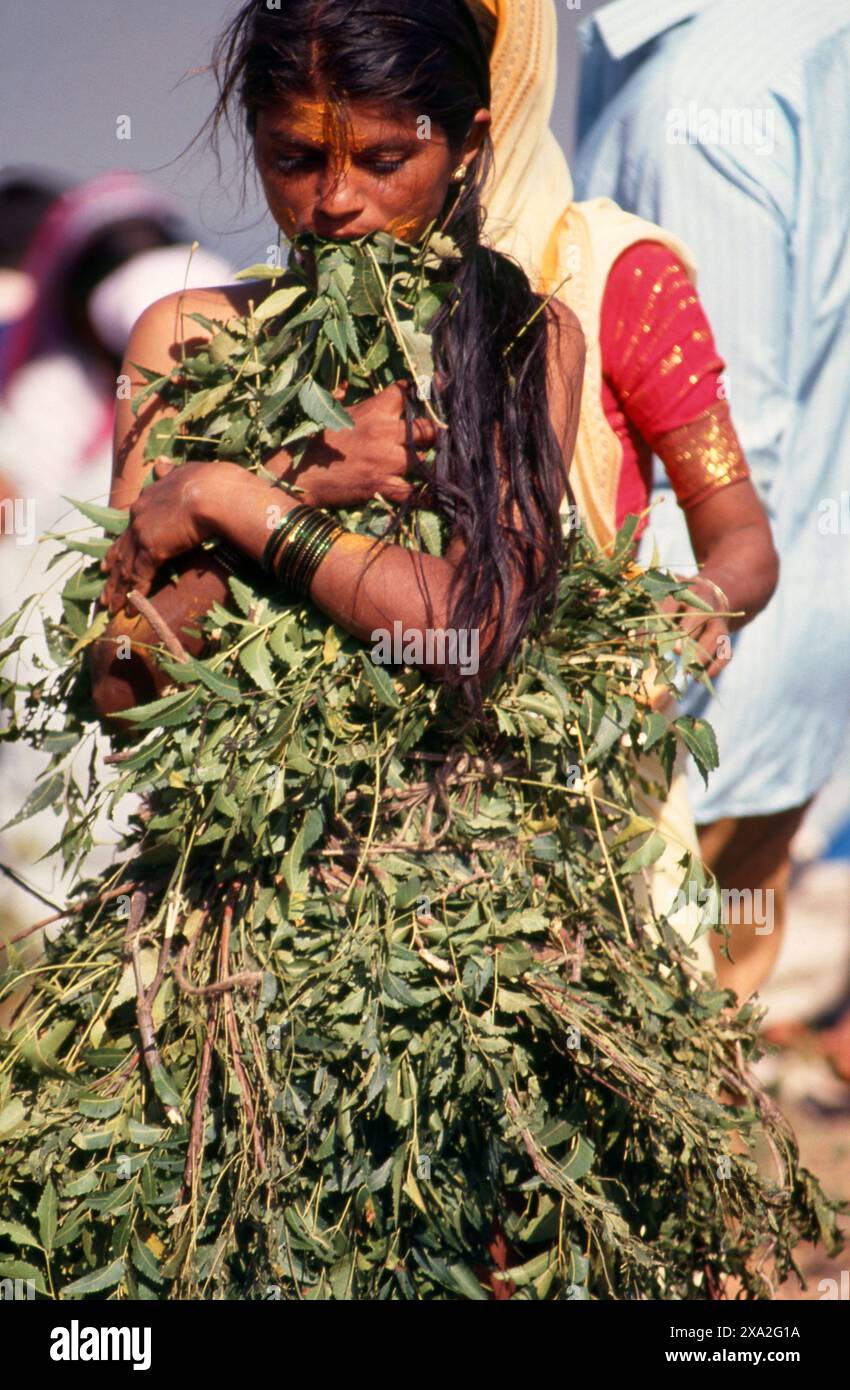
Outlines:
[[[62,491],[108,491],[117,374],[138,316],[185,282],[226,281],[231,270],[192,254],[164,193],[133,174],[104,174],[53,200],[19,274],[29,302],[0,343],[0,467],[44,531],[67,510]],[[4,602],[14,598],[6,591]]]

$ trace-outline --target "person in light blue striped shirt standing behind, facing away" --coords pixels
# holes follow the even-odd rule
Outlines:
[[[582,25],[579,197],[688,242],[725,391],[767,505],[781,580],[735,637],[717,695],[686,696],[719,745],[692,781],[721,887],[772,891],[772,933],[733,927],[743,998],[781,942],[789,844],[850,721],[850,4],[615,0]],[[651,537],[693,564],[661,488]]]

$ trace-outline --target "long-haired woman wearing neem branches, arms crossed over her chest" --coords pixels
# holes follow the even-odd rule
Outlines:
[[[681,585],[629,531],[569,563],[585,343],[482,245],[478,24],[251,0],[217,71],[293,264],[161,300],[128,346],[118,539],[26,709],[62,714],[57,759],[118,714],[112,791],[146,803],[4,1045],[7,1237],[36,1211],[62,1297],[767,1297],[832,1216],[751,1020],[639,897],[640,749],[711,742],[647,695]],[[375,664],[396,624],[476,634],[476,669]]]

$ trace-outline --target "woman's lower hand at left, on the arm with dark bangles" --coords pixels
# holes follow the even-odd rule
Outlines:
[[[149,594],[160,566],[193,550],[210,538],[208,507],[200,507],[201,488],[210,493],[232,463],[183,463],[168,459],[154,464],[156,482],[144,488],[129,509],[129,525],[106,553],[100,569],[107,581],[100,602],[111,616],[126,605],[131,589]],[[203,474],[201,474],[203,470]],[[240,470],[242,471],[242,470]],[[203,484],[201,484],[203,477]]]

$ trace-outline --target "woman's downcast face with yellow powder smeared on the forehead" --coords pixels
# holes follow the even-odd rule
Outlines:
[[[451,174],[471,163],[490,124],[475,114],[460,154],[426,117],[351,101],[340,121],[329,101],[303,99],[257,113],[254,156],[268,206],[288,238],[347,240],[392,232],[415,240],[439,217]]]

